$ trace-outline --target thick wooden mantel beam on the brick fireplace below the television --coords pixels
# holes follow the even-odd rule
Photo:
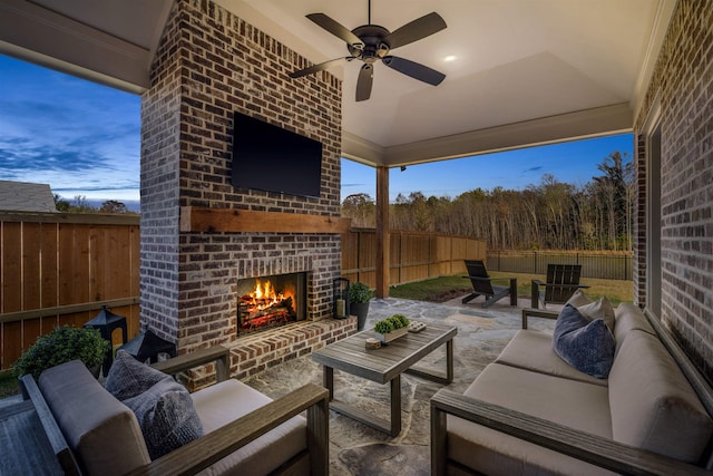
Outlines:
[[[234,208],[180,207],[180,231],[203,233],[343,233],[350,218]]]

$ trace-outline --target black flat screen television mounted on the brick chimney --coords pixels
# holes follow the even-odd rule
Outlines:
[[[232,174],[235,187],[319,197],[322,143],[235,113]]]

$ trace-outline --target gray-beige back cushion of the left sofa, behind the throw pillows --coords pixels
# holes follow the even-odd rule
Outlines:
[[[43,371],[38,386],[85,474],[124,475],[150,463],[134,412],[81,361]]]

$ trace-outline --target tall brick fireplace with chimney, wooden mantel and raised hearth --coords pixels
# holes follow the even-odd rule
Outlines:
[[[206,0],[178,0],[141,98],[141,324],[179,353],[221,343],[260,371],[353,331],[332,318],[341,274],[341,82]],[[234,187],[233,114],[322,143],[321,194]],[[303,273],[303,315],[238,337],[238,282]],[[272,357],[266,357],[272,354]]]

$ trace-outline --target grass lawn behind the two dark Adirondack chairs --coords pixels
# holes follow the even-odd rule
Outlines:
[[[514,276],[517,278],[517,294],[520,298],[530,297],[530,281],[534,279],[545,280],[540,274],[501,273],[491,271],[492,278]],[[500,282],[496,282],[500,284]],[[507,281],[504,281],[507,283]],[[600,280],[583,278],[582,284],[590,288],[585,293],[590,299],[598,299],[605,295],[613,305],[619,302],[632,301],[634,299],[634,282],[619,280]],[[457,298],[470,290],[470,282],[462,278],[462,274],[452,276],[434,278],[426,281],[418,281],[408,284],[391,286],[389,295],[392,298],[416,299],[422,301],[440,301],[443,297]],[[460,292],[462,291],[462,293]]]

